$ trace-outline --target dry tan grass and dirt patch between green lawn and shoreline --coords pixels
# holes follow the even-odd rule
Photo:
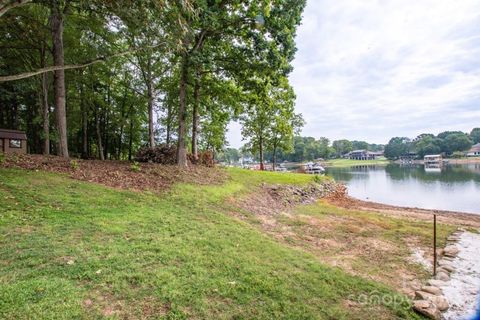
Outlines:
[[[410,260],[410,239],[389,238],[391,226],[375,217],[298,210],[298,205],[318,198],[349,200],[344,186],[333,183],[326,187],[328,192],[318,193],[296,188],[262,186],[248,198],[236,200],[241,208],[238,212],[244,213],[240,217],[274,239],[314,254],[323,263],[414,295],[421,282],[417,266]]]

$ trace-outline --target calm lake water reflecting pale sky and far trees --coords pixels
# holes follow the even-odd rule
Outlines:
[[[327,168],[327,175],[348,186],[360,200],[425,209],[480,214],[480,164],[356,166]]]

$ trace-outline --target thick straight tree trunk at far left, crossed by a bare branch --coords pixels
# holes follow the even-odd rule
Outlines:
[[[63,53],[63,12],[60,8],[60,1],[52,1],[52,42],[53,42],[53,63],[56,66],[64,66]],[[56,70],[53,77],[55,113],[57,117],[58,130],[58,154],[68,158],[67,141],[67,115],[65,110],[65,71]]]

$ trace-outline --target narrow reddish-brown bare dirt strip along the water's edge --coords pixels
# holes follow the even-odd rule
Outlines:
[[[473,213],[399,207],[371,201],[359,200],[347,195],[333,195],[331,197],[328,197],[327,201],[332,205],[345,209],[375,211],[386,215],[401,216],[424,221],[431,221],[432,216],[436,214],[437,220],[441,223],[480,228],[480,215]]]

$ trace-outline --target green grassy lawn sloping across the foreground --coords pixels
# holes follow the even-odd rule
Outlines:
[[[157,196],[0,169],[0,318],[416,317],[405,304],[347,307],[395,294],[225,214],[225,199],[263,181],[311,177],[230,174]]]

